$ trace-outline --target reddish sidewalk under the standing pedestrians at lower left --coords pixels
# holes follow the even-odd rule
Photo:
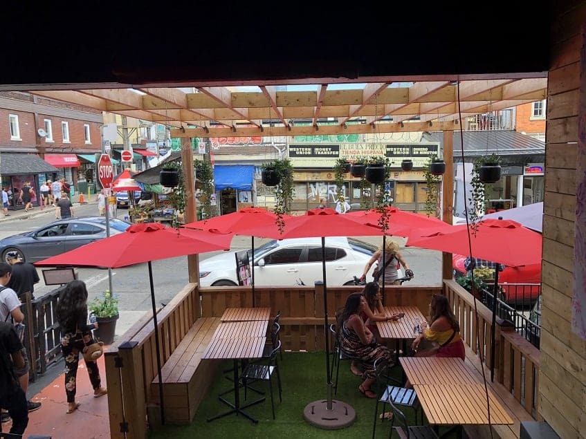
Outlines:
[[[107,387],[103,356],[98,359],[98,367],[102,386]],[[23,438],[35,434],[53,438],[109,438],[108,397],[93,398],[93,389],[81,355],[77,368],[77,395],[75,396],[81,405],[73,413],[66,413],[67,397],[64,384],[64,375],[60,373],[51,384],[31,398],[35,402],[41,402],[42,406],[39,410],[28,413],[28,427]],[[10,421],[2,424],[2,431],[9,431],[10,425]]]

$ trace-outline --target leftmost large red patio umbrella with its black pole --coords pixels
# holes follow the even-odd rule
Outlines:
[[[78,247],[75,250],[52,256],[35,265],[73,265],[117,268],[147,262],[151,286],[151,302],[155,328],[155,345],[158,376],[161,377],[161,355],[158,339],[158,322],[151,261],[214,250],[228,250],[231,234],[218,234],[199,230],[173,229],[159,223],[134,224],[126,232]],[[163,380],[159,382],[161,421],[165,423],[163,409]]]

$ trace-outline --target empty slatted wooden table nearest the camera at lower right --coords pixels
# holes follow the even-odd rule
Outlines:
[[[399,361],[430,424],[488,424],[484,383],[461,359],[402,357]],[[491,424],[513,424],[491,389],[488,389],[488,400]]]

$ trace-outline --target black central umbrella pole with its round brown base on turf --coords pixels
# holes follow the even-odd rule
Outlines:
[[[329,370],[329,325],[327,313],[327,283],[326,283],[326,244],[322,236],[322,272],[324,286],[324,335],[326,349],[327,400],[310,402],[303,410],[303,417],[307,422],[320,429],[336,430],[349,427],[356,420],[356,411],[345,402],[333,400],[333,383]],[[319,285],[316,281],[315,285]]]

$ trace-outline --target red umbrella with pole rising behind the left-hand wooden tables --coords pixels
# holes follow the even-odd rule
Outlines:
[[[289,218],[289,215],[284,215],[283,219]],[[250,227],[263,227],[275,224],[277,215],[273,212],[269,212],[266,209],[260,209],[259,207],[245,207],[237,212],[231,214],[214,216],[213,218],[207,218],[200,221],[194,221],[193,223],[187,223],[183,227],[190,229],[200,230],[217,230],[221,232],[231,232],[234,234],[244,234],[241,230],[250,229]],[[250,265],[253,276],[253,307],[255,306],[255,236],[250,236],[250,247],[252,247],[252,257]]]

